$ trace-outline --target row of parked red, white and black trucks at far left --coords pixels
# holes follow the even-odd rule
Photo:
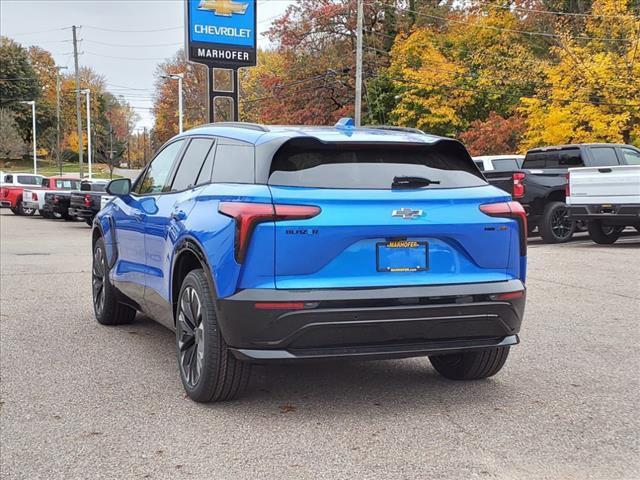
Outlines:
[[[43,177],[30,173],[0,174],[0,204],[16,215],[82,220],[91,225],[111,197],[106,180]]]

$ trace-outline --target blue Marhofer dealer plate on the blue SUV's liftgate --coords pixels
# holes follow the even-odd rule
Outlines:
[[[393,240],[376,245],[379,272],[422,272],[429,269],[429,244]]]

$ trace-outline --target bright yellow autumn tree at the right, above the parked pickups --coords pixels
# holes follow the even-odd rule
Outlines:
[[[584,39],[553,47],[538,98],[523,98],[523,147],[562,143],[640,144],[640,19],[629,0],[595,0]],[[611,18],[611,16],[617,16]]]

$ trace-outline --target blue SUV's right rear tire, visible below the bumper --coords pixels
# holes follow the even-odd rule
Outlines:
[[[509,347],[477,352],[450,353],[429,357],[436,371],[450,380],[480,380],[500,371],[509,355]]]

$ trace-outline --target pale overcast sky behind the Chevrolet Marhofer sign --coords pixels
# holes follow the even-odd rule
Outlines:
[[[259,47],[269,46],[264,32],[290,3],[258,0]],[[151,128],[156,65],[184,45],[184,0],[0,0],[0,34],[48,50],[69,72],[72,25],[81,26],[80,66],[125,97],[140,116],[137,128]]]

